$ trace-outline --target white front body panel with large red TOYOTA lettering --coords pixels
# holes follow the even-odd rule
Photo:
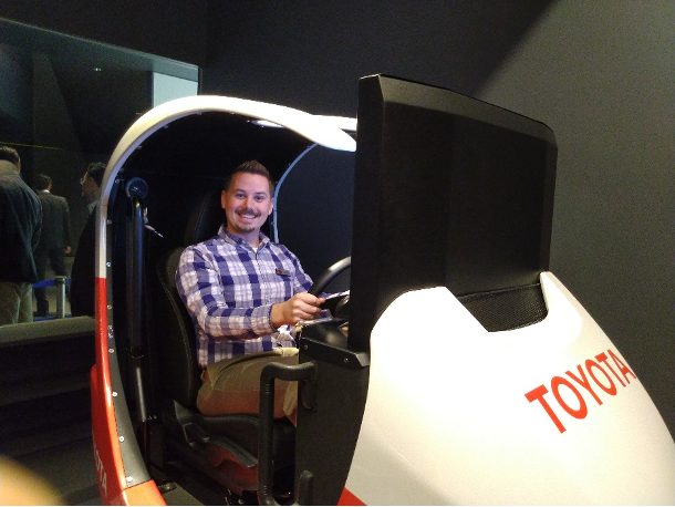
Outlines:
[[[675,504],[675,443],[648,394],[562,283],[541,284],[548,317],[513,331],[487,332],[446,288],[386,309],[350,492],[368,505]]]

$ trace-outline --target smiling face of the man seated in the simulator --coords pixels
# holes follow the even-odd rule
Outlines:
[[[270,184],[264,176],[237,173],[220,195],[228,232],[246,239],[251,246],[260,244],[260,227],[274,209]]]

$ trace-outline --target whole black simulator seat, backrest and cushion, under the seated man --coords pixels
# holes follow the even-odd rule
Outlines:
[[[225,218],[220,192],[205,195],[189,217],[184,245],[166,252],[157,265],[155,329],[159,375],[166,400],[162,410],[165,449],[237,495],[258,489],[256,415],[206,416],[195,406],[201,385],[196,338],[190,317],[176,289],[176,269],[184,248],[215,236]],[[273,424],[274,469],[292,477],[295,427],[287,420]]]

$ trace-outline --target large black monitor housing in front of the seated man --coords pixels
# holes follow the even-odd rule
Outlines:
[[[350,345],[403,292],[445,286],[488,329],[546,317],[557,145],[544,124],[449,90],[359,86]],[[415,319],[443,315],[406,315]]]

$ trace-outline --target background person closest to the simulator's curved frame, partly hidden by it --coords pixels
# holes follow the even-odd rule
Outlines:
[[[71,313],[73,317],[95,317],[96,208],[104,174],[105,164],[94,162],[86,167],[86,172],[80,180],[82,197],[87,203],[90,214],[80,235],[71,270]]]

